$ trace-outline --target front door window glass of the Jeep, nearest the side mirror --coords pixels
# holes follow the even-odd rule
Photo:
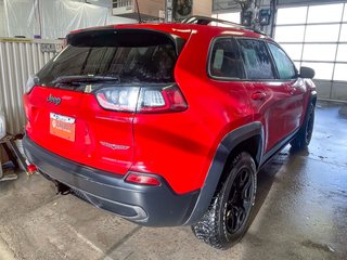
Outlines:
[[[280,79],[295,78],[296,72],[291,58],[279,47],[269,43]]]

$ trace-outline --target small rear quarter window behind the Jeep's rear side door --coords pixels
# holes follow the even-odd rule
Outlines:
[[[209,61],[209,73],[211,76],[222,78],[241,77],[241,61],[233,39],[216,40]]]

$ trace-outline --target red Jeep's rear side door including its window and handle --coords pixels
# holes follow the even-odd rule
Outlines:
[[[265,153],[280,144],[287,134],[287,117],[292,115],[293,95],[287,81],[278,79],[272,56],[261,39],[237,39],[243,58],[254,120],[261,121],[265,132]]]

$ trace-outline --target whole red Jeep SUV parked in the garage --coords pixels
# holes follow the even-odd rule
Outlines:
[[[314,72],[266,35],[207,17],[90,28],[28,81],[24,147],[62,193],[228,248],[257,172],[311,139]]]

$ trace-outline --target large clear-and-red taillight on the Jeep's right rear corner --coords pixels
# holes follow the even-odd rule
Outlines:
[[[118,112],[169,113],[188,108],[185,99],[176,84],[103,88],[95,95],[103,108]]]

